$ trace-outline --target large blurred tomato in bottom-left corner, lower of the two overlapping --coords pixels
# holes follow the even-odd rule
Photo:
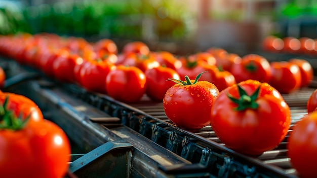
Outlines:
[[[63,177],[70,161],[70,143],[51,121],[27,123],[19,130],[0,129],[2,177]]]

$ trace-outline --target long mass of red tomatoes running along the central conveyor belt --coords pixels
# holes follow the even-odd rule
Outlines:
[[[135,41],[118,53],[109,39],[89,43],[47,33],[0,37],[0,42],[2,54],[60,81],[124,102],[137,102],[144,94],[163,101],[176,126],[211,125],[226,147],[252,156],[275,148],[287,135],[290,108],[281,93],[313,78],[304,59],[269,62],[221,48],[175,56]]]

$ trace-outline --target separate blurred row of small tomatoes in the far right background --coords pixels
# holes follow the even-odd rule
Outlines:
[[[308,37],[284,37],[268,36],[262,42],[265,51],[273,53],[291,53],[302,55],[317,55],[317,39]]]

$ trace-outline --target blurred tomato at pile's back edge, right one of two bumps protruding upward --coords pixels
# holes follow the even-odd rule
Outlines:
[[[124,45],[122,52],[125,54],[138,53],[140,55],[148,55],[150,53],[150,49],[145,43],[140,41],[134,41]]]

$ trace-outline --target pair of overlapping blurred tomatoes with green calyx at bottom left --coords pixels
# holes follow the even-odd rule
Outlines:
[[[64,131],[23,95],[0,92],[0,102],[1,176],[63,177],[71,153]]]

